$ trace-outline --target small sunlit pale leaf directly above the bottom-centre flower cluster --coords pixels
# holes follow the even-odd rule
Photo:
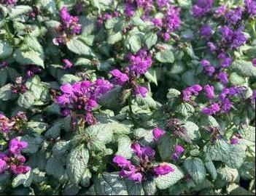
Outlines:
[[[131,139],[128,136],[119,136],[117,139],[118,150],[115,155],[122,155],[124,158],[131,159],[133,150],[131,149]]]

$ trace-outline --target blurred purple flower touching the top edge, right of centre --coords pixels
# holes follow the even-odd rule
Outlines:
[[[211,11],[213,3],[213,0],[198,0],[198,2],[193,5],[193,15],[195,17],[203,17]]]

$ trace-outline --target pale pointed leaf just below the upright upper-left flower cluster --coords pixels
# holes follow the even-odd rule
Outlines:
[[[67,42],[66,46],[71,52],[76,54],[94,55],[92,49],[90,49],[90,47],[84,42],[79,40],[79,37],[72,38],[69,42]]]

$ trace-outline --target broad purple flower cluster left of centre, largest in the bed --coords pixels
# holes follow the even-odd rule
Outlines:
[[[93,108],[98,105],[96,99],[110,89],[112,84],[103,79],[97,79],[95,82],[64,83],[61,86],[63,94],[57,97],[56,102],[61,106],[64,116],[76,111],[82,112],[85,114],[85,121],[93,124],[96,122],[92,114]]]

